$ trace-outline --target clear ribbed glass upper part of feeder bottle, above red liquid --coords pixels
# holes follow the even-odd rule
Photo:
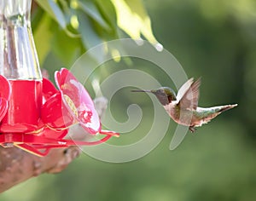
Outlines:
[[[0,1],[0,74],[42,80],[30,22],[31,0]]]

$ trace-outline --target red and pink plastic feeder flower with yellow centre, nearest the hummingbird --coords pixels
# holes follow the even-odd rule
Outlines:
[[[55,82],[60,91],[42,108],[42,120],[49,128],[60,130],[79,123],[91,135],[119,136],[113,131],[102,130],[94,102],[71,72],[65,68],[55,72]]]

